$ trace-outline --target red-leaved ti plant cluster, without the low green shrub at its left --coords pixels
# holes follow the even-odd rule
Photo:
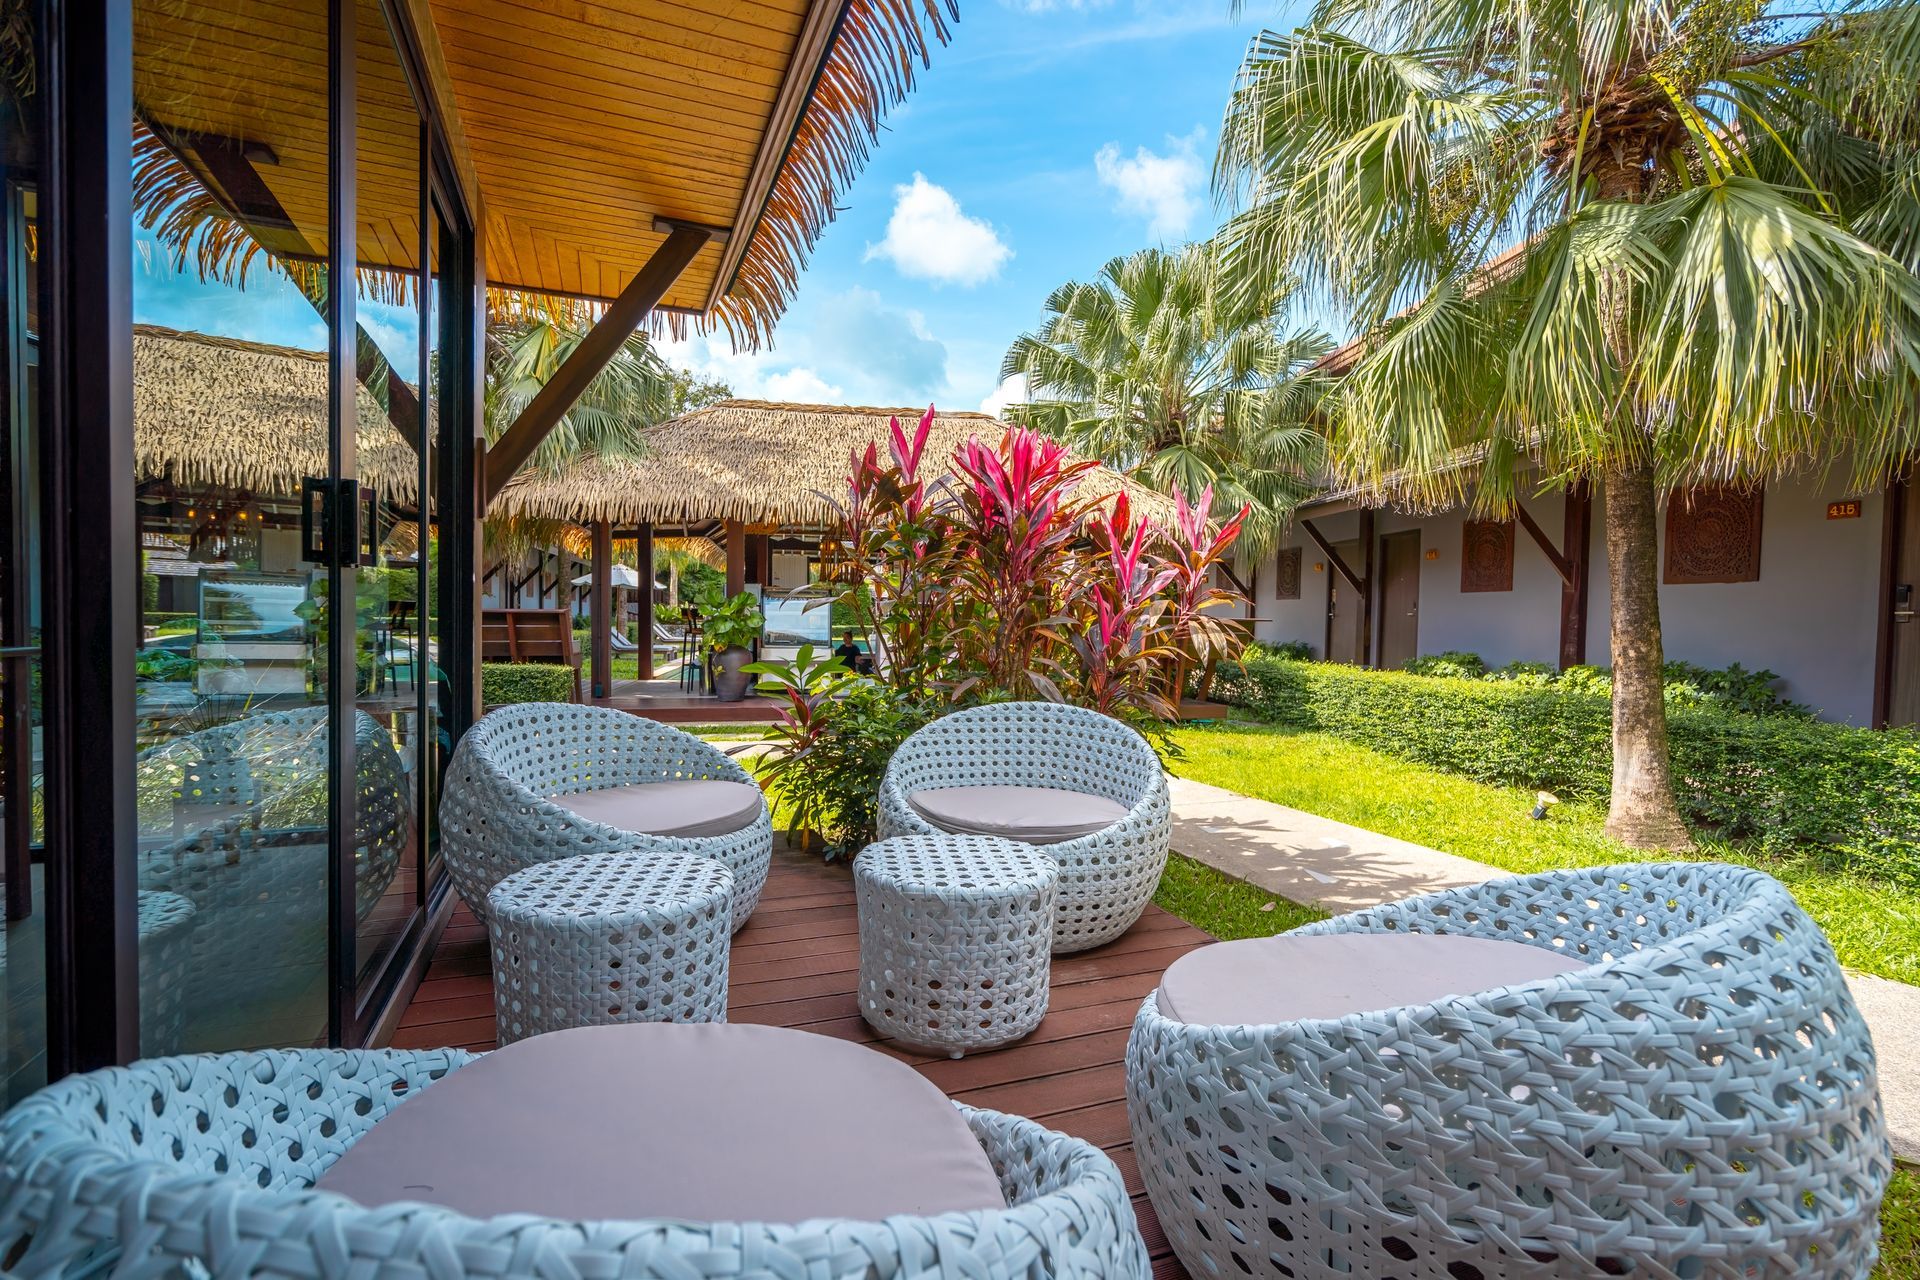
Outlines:
[[[935,486],[922,476],[931,422],[931,409],[914,432],[895,418],[885,459],[877,445],[852,459],[822,545],[902,693],[1165,718],[1187,664],[1242,643],[1236,622],[1213,616],[1238,597],[1213,580],[1244,509],[1215,526],[1210,489],[1177,495],[1171,528],[1137,518],[1123,493],[1102,509],[1077,493],[1091,462],[1018,426],[996,445],[968,439],[954,482]],[[1098,660],[1073,635],[1100,637]],[[1144,660],[1127,662],[1135,651]]]

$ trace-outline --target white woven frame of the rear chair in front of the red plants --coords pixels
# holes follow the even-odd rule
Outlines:
[[[1056,952],[1100,946],[1131,929],[1167,865],[1167,775],[1146,739],[1112,716],[1058,702],[998,702],[935,720],[887,764],[879,835],[939,835],[908,796],[941,787],[1054,787],[1125,808],[1104,831],[1041,850],[1060,864]]]

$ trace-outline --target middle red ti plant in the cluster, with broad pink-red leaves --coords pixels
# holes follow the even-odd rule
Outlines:
[[[1094,462],[1068,459],[1066,445],[1012,428],[991,449],[977,438],[954,453],[947,520],[956,555],[954,649],[960,681],[1023,695],[1058,697],[1041,674],[1046,647],[1081,593],[1073,543],[1089,507],[1073,497]]]

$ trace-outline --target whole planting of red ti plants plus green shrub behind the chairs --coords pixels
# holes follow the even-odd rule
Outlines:
[[[1156,729],[1194,662],[1240,649],[1213,585],[1246,512],[1215,526],[1213,495],[1177,501],[1173,528],[1127,497],[1077,493],[1091,462],[1012,428],[968,439],[952,478],[924,466],[933,411],[889,424],[887,453],[851,459],[822,558],[835,606],[877,641],[876,677],[803,649],[749,670],[787,699],[760,770],[797,829],[829,856],[872,839],[874,793],[893,748],[954,704],[1050,699]]]

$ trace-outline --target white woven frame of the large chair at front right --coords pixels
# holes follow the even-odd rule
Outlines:
[[[1427,1006],[1127,1046],[1140,1176],[1194,1276],[1864,1280],[1874,1048],[1774,879],[1615,865],[1300,933],[1450,933],[1590,967]]]

